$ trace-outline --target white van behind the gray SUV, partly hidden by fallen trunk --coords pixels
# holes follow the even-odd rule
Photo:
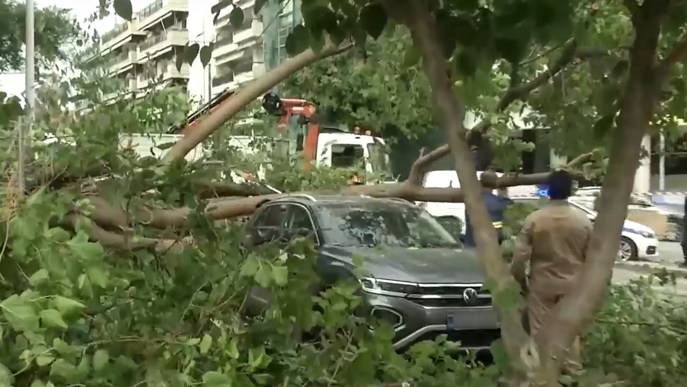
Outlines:
[[[482,176],[482,171],[477,171],[477,178]],[[497,172],[497,176],[503,176]],[[450,171],[430,171],[423,178],[423,187],[428,188],[460,188],[460,180],[455,170]],[[518,187],[508,187],[508,196],[534,196],[537,193],[536,185],[521,185]],[[496,193],[496,190],[494,190]],[[461,234],[465,233],[465,204],[464,203],[444,203],[444,202],[417,202],[418,206],[423,207],[427,212],[436,217],[454,217],[462,222]]]

